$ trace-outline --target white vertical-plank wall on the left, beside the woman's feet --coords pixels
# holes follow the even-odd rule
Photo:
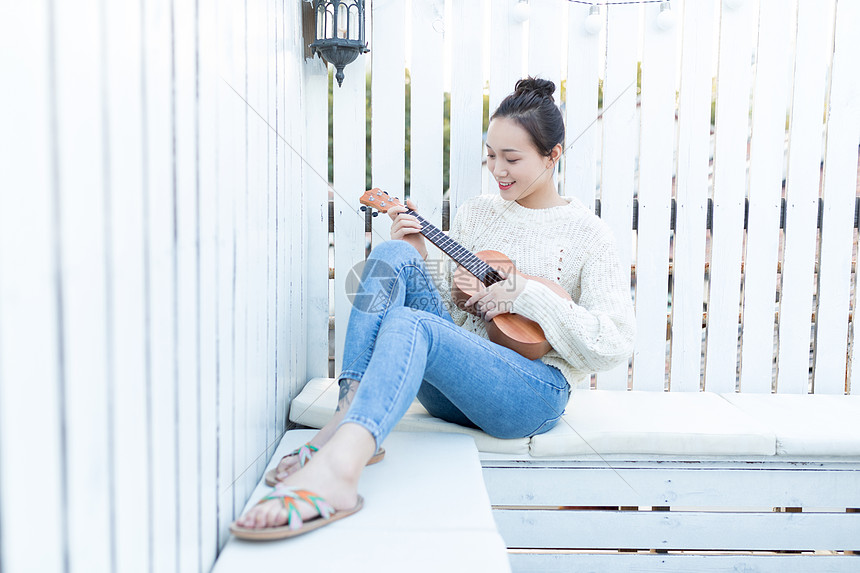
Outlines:
[[[319,374],[301,32],[297,1],[0,8],[4,573],[208,571]]]

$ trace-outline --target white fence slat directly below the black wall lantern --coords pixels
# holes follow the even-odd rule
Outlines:
[[[365,184],[363,71],[366,57],[359,56],[350,65],[343,86],[338,86],[337,80],[333,81],[335,376],[340,374],[343,367],[343,343],[351,309],[346,292],[346,277],[357,263],[364,260],[364,213],[358,209],[358,199]],[[413,177],[414,173],[413,165]]]

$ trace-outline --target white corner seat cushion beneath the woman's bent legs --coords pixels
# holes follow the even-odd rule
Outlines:
[[[314,378],[310,380],[290,404],[290,420],[310,428],[322,428],[337,408],[338,385],[334,378]],[[480,430],[466,428],[451,422],[434,418],[417,400],[412,403],[406,415],[394,427],[398,432],[449,432],[467,434],[475,440],[482,452],[499,454],[527,454],[529,439],[519,438],[502,440]]]

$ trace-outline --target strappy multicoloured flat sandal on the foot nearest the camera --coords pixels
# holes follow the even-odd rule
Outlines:
[[[338,519],[349,517],[356,513],[364,506],[364,498],[358,496],[355,506],[351,509],[336,510],[326,500],[312,491],[299,489],[296,487],[278,486],[272,490],[272,493],[257,502],[257,505],[265,503],[272,499],[280,499],[287,508],[287,523],[276,527],[266,527],[264,529],[249,529],[236,525],[235,522],[230,526],[230,531],[239,539],[248,539],[252,541],[269,541],[274,539],[286,539],[295,537],[314,529],[319,529],[324,525],[328,525]],[[314,507],[319,513],[318,517],[304,521],[299,509],[296,506],[296,501],[304,501]]]

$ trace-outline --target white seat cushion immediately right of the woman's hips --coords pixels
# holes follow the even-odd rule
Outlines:
[[[769,428],[711,392],[574,390],[562,420],[531,441],[536,457],[773,455],[775,448]]]

